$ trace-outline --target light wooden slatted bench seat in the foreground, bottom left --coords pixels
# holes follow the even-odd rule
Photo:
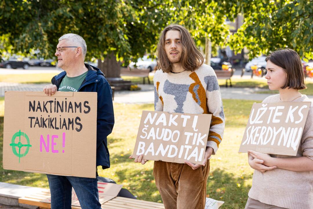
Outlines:
[[[48,189],[30,194],[25,197],[18,198],[18,203],[38,206],[40,209],[51,208],[50,203],[41,202],[42,200],[50,197]],[[144,200],[131,199],[126,197],[115,197],[101,205],[103,209],[164,209],[162,203],[150,202]],[[72,206],[72,209],[81,209],[78,206]]]

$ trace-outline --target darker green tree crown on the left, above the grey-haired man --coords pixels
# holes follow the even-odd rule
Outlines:
[[[61,35],[76,33],[86,40],[87,59],[112,51],[118,59],[142,56],[167,22],[154,7],[148,0],[4,0],[0,35],[10,37],[13,53],[39,49],[51,57]]]

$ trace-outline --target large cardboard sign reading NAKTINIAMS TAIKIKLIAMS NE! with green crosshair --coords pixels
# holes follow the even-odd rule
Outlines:
[[[7,91],[3,168],[95,178],[96,92]]]

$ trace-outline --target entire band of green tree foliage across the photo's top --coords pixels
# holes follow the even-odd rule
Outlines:
[[[231,34],[226,18],[244,15]],[[212,45],[251,58],[280,47],[291,47],[313,58],[312,0],[3,0],[0,3],[0,53],[27,55],[39,49],[51,57],[58,38],[80,34],[87,42],[87,59],[114,52],[118,60],[153,54],[167,24],[185,25],[198,46],[205,37]]]

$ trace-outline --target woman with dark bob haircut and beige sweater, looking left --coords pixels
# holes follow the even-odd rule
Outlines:
[[[305,89],[299,55],[292,49],[279,49],[266,57],[265,78],[270,90],[269,102],[306,102],[299,92]],[[313,208],[313,109],[310,107],[296,156],[248,151],[254,169],[252,187],[245,209]]]

